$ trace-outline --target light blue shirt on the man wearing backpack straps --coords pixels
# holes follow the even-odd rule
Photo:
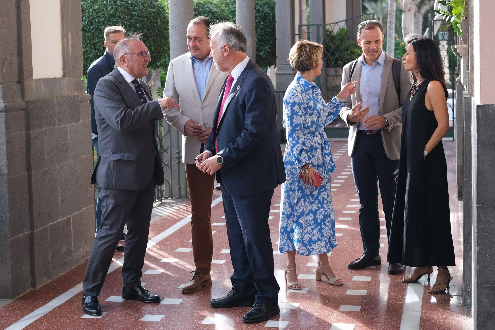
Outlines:
[[[361,56],[361,77],[359,79],[359,100],[361,109],[369,106],[370,111],[365,118],[373,115],[380,115],[380,91],[382,89],[383,63],[385,63],[385,52],[378,57],[378,60],[369,66]],[[366,130],[363,123],[359,123],[359,130]],[[378,129],[379,130],[379,129]]]

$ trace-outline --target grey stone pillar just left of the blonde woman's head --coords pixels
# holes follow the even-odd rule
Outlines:
[[[275,19],[277,36],[277,69],[275,72],[276,90],[285,92],[294,79],[296,71],[289,64],[289,51],[295,43],[294,2],[275,1]]]

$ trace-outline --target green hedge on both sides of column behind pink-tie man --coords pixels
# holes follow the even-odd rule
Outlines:
[[[275,0],[255,0],[256,63],[266,68],[276,62]],[[194,16],[217,21],[236,21],[235,0],[195,0]],[[247,45],[249,47],[249,45]]]

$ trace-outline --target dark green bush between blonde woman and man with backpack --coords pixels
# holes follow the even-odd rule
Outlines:
[[[347,29],[342,28],[334,33],[326,31],[325,55],[327,68],[343,67],[352,60],[361,56],[362,50],[355,39],[349,38]]]

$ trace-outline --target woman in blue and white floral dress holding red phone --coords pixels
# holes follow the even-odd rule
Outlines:
[[[287,252],[286,285],[301,289],[297,281],[296,251],[300,255],[318,255],[316,280],[322,276],[329,284],[342,285],[328,262],[328,252],[337,245],[330,174],[335,163],[325,126],[339,115],[342,100],[354,93],[356,82],[326,103],[320,89],[311,81],[320,75],[323,47],[299,40],[289,54],[289,62],[297,70],[284,97],[284,121],[287,131],[285,172],[282,185],[279,251]],[[313,172],[324,177],[316,187]],[[302,179],[299,174],[302,173]]]

